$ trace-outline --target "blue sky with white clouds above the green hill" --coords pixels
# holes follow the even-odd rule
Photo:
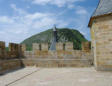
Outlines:
[[[20,43],[52,28],[79,30],[88,40],[88,22],[99,0],[0,0],[0,41]]]

